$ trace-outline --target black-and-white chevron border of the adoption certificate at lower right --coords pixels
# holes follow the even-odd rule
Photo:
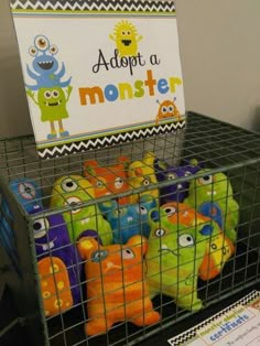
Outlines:
[[[236,303],[227,306],[226,309],[219,311],[215,315],[210,316],[209,318],[205,320],[204,322],[197,324],[196,326],[187,329],[186,332],[173,337],[172,339],[169,339],[169,344],[171,346],[184,346],[187,342],[191,342],[195,336],[197,331],[203,328],[204,326],[210,324],[210,322],[216,321],[218,317],[221,317],[225,313],[231,311],[234,307],[238,305],[247,305],[248,303],[252,302],[254,299],[260,298],[259,291],[252,291],[251,293],[247,294]]]

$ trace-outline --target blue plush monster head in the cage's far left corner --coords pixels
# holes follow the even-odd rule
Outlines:
[[[42,190],[36,181],[22,177],[11,181],[9,186],[19,204],[21,204],[28,213],[34,213],[43,208]]]

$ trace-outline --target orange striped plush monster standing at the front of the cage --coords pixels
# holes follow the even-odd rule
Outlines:
[[[160,321],[153,310],[144,278],[147,239],[134,236],[126,246],[99,246],[93,238],[80,238],[78,249],[87,278],[87,335],[107,333],[120,321],[138,326]]]

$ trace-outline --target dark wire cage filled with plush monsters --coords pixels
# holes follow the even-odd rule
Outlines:
[[[133,345],[259,281],[257,133],[188,112],[174,133],[45,161],[4,139],[0,156],[33,345]]]

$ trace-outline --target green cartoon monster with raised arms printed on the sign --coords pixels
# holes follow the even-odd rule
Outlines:
[[[54,122],[58,123],[59,137],[69,136],[68,131],[64,130],[63,119],[68,118],[68,112],[66,109],[66,104],[68,102],[73,87],[67,86],[66,94],[58,87],[41,87],[37,90],[37,95],[31,89],[26,90],[26,94],[34,101],[35,105],[41,109],[41,121],[50,121],[51,132],[47,134],[47,139],[52,140],[57,138],[57,131],[55,129]]]

